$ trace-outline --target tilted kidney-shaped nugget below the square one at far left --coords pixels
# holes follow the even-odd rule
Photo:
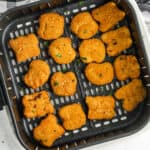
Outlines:
[[[29,71],[24,76],[24,82],[29,87],[36,89],[44,85],[50,75],[50,67],[43,60],[33,60],[29,65]]]

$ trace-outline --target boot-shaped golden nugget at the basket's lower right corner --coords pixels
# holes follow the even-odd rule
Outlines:
[[[146,97],[146,89],[140,79],[133,79],[127,85],[115,92],[115,97],[123,100],[123,108],[126,111],[134,110]]]

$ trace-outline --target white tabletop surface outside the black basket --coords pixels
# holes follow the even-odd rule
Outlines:
[[[138,9],[135,2],[133,0],[131,0],[131,2],[135,6],[135,9]],[[138,14],[138,20],[141,20],[141,26],[142,28],[144,28],[140,13]],[[146,21],[150,22],[149,19]],[[143,39],[145,40],[146,43],[146,47],[149,48],[150,45],[148,43],[148,40],[146,39],[148,35],[146,34],[147,32],[142,33]],[[21,147],[20,143],[18,142],[11,124],[12,123],[8,118],[8,113],[4,109],[2,112],[0,112],[0,150],[24,150]],[[131,149],[135,150],[150,149],[150,123],[147,124],[145,128],[143,128],[134,135],[121,138],[118,140],[113,140],[111,142],[105,142],[103,144],[95,145],[92,147],[84,148],[84,150],[131,150]]]

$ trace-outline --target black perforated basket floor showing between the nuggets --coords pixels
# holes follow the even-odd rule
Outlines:
[[[86,2],[82,3],[76,3],[71,4],[68,6],[65,6],[64,8],[57,8],[53,10],[46,10],[46,12],[49,11],[56,11],[62,15],[65,16],[66,26],[65,26],[65,33],[64,36],[69,36],[73,41],[73,47],[77,50],[78,46],[80,44],[80,40],[74,36],[70,31],[70,20],[72,16],[77,14],[78,12],[91,10],[97,6],[101,5],[101,1],[94,1],[94,0],[88,0]],[[70,104],[70,103],[81,103],[85,112],[87,113],[87,106],[85,105],[85,97],[92,95],[112,95],[112,93],[118,89],[119,87],[127,84],[129,80],[121,81],[119,82],[117,79],[114,79],[112,83],[104,85],[104,86],[95,86],[87,81],[84,75],[84,68],[85,64],[82,62],[79,62],[79,58],[77,57],[76,60],[67,65],[58,65],[56,64],[53,59],[48,56],[48,45],[45,41],[42,39],[39,39],[40,41],[40,48],[41,48],[41,55],[39,57],[35,57],[32,59],[29,59],[28,61],[24,63],[18,64],[15,59],[15,55],[8,46],[8,41],[12,38],[16,38],[21,35],[26,35],[29,33],[35,33],[37,34],[37,28],[38,28],[38,18],[40,16],[40,12],[36,14],[31,14],[30,16],[22,17],[18,20],[13,21],[7,28],[7,31],[5,33],[5,48],[6,53],[9,59],[9,64],[11,66],[11,72],[12,72],[12,78],[14,79],[15,89],[16,89],[16,96],[18,104],[21,104],[21,98],[22,96],[26,94],[31,94],[34,92],[38,92],[41,90],[47,90],[51,96],[51,100],[53,102],[53,105],[55,106],[56,110],[58,110],[61,106]],[[115,28],[118,28],[122,25],[128,26],[128,19],[126,18],[121,23],[117,24]],[[132,31],[131,31],[132,33]],[[101,33],[98,33],[95,37],[100,37]],[[50,43],[50,42],[49,42]],[[128,50],[125,50],[123,54],[136,54],[135,51],[136,47],[133,45]],[[28,88],[24,85],[22,77],[24,74],[28,71],[29,64],[32,60],[35,59],[43,59],[45,60],[51,67],[52,74],[56,71],[73,71],[76,73],[76,76],[78,78],[78,87],[77,92],[74,96],[66,96],[66,97],[58,97],[52,93],[52,90],[49,85],[49,81],[41,88],[38,88],[36,90],[33,90],[31,88]],[[105,61],[113,62],[114,58],[106,57]],[[114,129],[120,129],[123,128],[132,122],[136,120],[138,115],[140,114],[143,105],[140,104],[139,107],[134,110],[131,113],[127,113],[124,111],[121,107],[121,103],[116,100],[116,116],[112,120],[102,120],[102,121],[89,121],[87,120],[86,125],[84,125],[81,129],[74,130],[71,132],[65,132],[64,136],[60,139],[58,139],[54,145],[58,146],[59,144],[68,143],[72,141],[76,141],[78,139],[86,138],[89,136],[94,136],[100,133],[112,131]],[[20,106],[19,106],[20,107]],[[21,114],[22,114],[22,106],[19,108]],[[59,119],[59,117],[58,117]],[[26,119],[22,115],[22,123],[25,129],[25,132],[29,136],[32,142],[35,142],[32,136],[32,130],[35,126],[38,125],[40,119]],[[60,121],[60,120],[59,120]]]

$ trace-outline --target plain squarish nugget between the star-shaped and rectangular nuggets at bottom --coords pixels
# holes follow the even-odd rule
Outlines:
[[[63,120],[63,127],[66,130],[81,128],[86,123],[86,115],[81,104],[74,103],[60,108],[59,116]]]

